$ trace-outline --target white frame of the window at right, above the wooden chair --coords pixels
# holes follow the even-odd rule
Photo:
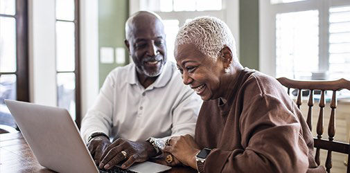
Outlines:
[[[259,66],[260,71],[276,77],[276,15],[285,12],[318,10],[319,64],[318,71],[329,71],[329,9],[350,6],[347,0],[306,0],[275,3],[259,0]]]

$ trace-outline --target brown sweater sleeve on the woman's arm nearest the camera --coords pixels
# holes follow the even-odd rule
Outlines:
[[[257,95],[240,114],[242,149],[213,149],[205,172],[306,172],[308,147],[297,116],[271,95]]]

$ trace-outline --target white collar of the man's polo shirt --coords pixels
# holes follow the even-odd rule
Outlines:
[[[148,86],[147,89],[161,88],[166,86],[166,84],[171,79],[171,75],[173,75],[172,67],[173,67],[173,62],[166,62],[166,64],[164,64],[163,71],[161,71],[157,80],[155,80],[153,84]],[[132,63],[132,66],[130,67],[130,75],[128,78],[128,82],[129,84],[140,84],[139,80],[137,79],[136,65],[134,63]]]

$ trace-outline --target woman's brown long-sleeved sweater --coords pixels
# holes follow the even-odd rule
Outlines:
[[[304,118],[277,80],[246,68],[227,95],[200,109],[195,141],[213,149],[205,172],[325,172]]]

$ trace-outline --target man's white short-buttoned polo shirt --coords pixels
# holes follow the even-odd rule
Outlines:
[[[93,107],[82,119],[85,142],[94,132],[132,141],[191,134],[202,105],[200,97],[182,83],[173,62],[166,62],[157,80],[144,89],[134,63],[107,76]]]

